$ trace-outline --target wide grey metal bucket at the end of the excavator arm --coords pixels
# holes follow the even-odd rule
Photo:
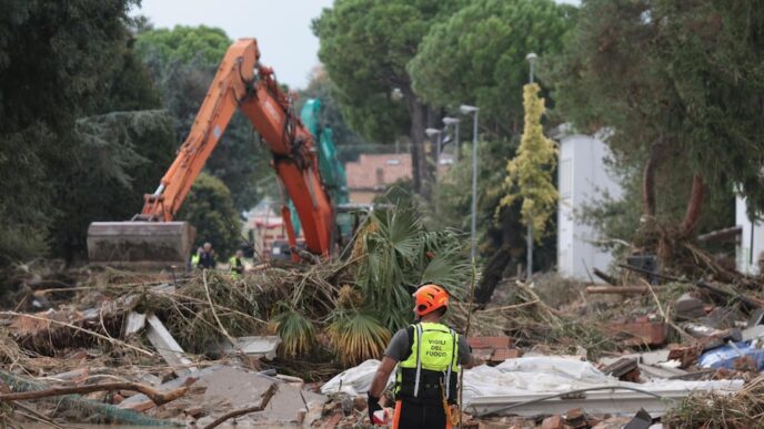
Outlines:
[[[127,268],[185,267],[195,237],[188,222],[93,222],[88,258]]]

